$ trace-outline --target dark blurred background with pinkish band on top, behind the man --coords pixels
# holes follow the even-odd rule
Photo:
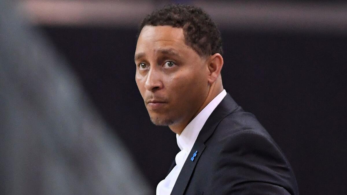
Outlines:
[[[176,136],[151,124],[135,83],[137,25],[169,1],[22,1],[70,62],[152,188]],[[223,86],[286,154],[301,194],[347,191],[347,4],[342,1],[171,1],[220,26]]]

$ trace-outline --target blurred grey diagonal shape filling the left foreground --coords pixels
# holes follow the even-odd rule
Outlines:
[[[42,34],[0,1],[0,194],[151,194]]]

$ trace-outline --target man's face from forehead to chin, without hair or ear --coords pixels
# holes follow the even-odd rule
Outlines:
[[[135,51],[137,87],[155,125],[188,123],[208,91],[209,69],[184,41],[182,28],[145,26]]]

